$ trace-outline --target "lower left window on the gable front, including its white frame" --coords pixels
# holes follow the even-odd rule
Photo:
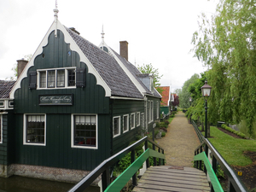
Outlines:
[[[23,143],[45,145],[45,114],[24,115]]]

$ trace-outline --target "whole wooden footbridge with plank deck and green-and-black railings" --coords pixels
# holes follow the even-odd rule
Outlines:
[[[114,154],[108,160],[96,167],[79,183],[77,183],[69,192],[83,192],[84,189],[96,180],[102,177],[102,191],[119,192],[125,184],[132,179],[133,191],[164,192],[164,191],[224,191],[218,182],[216,173],[218,166],[222,168],[228,177],[227,191],[240,192],[247,191],[239,177],[230,168],[227,162],[222,158],[212,144],[201,135],[201,132],[194,126],[198,137],[201,137],[201,145],[195,149],[195,168],[181,166],[165,166],[164,149],[157,143],[154,143],[148,137],[143,137],[137,143],[123,149],[118,154]],[[196,130],[197,129],[197,130]],[[148,148],[148,142],[152,143],[153,148]],[[137,160],[135,159],[135,148],[144,143],[145,151]],[[131,166],[125,172],[122,172],[112,183],[110,183],[110,167],[118,160],[131,152]],[[154,166],[149,166],[149,157],[154,157]],[[158,163],[157,163],[158,159]],[[147,171],[138,180],[137,172],[145,165]]]

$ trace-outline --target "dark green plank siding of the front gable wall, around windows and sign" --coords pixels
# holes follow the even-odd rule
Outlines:
[[[58,31],[49,35],[42,54],[34,60],[34,66],[27,74],[38,69],[59,67],[84,67],[85,87],[74,89],[30,90],[29,79],[22,79],[20,89],[15,91],[15,164],[52,166],[90,171],[110,155],[110,119],[109,101],[105,90],[96,84],[96,78],[88,73],[88,67],[80,61],[79,54],[67,52],[70,45],[64,41],[64,35]],[[43,57],[44,54],[44,57]],[[39,85],[39,83],[38,83]],[[39,95],[73,94],[71,106],[40,106]],[[24,114],[46,114],[46,146],[23,145]],[[97,114],[98,148],[72,148],[72,114]]]

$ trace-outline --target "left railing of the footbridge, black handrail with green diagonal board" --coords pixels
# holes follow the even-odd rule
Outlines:
[[[158,152],[148,148],[148,142],[152,143],[153,148],[158,147]],[[137,160],[135,160],[135,148],[137,148],[141,143],[144,143],[145,151],[137,158]],[[110,183],[110,167],[129,152],[131,152],[131,166],[129,166],[125,172],[122,172],[122,174],[120,174],[113,183]],[[102,191],[104,192],[120,191],[124,188],[125,184],[131,179],[131,177],[132,184],[135,186],[137,185],[137,171],[141,166],[143,166],[145,161],[147,168],[149,167],[148,157],[150,156],[154,157],[154,166],[156,166],[156,158],[159,158],[160,165],[165,165],[164,149],[157,143],[154,143],[150,138],[143,137],[141,140],[120,151],[118,154],[114,154],[112,157],[108,158],[108,160],[104,160],[99,166],[79,181],[79,183],[73,186],[72,189],[69,189],[68,192],[83,192],[84,189],[88,188],[100,175],[102,175]]]

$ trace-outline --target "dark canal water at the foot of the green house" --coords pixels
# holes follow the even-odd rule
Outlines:
[[[71,189],[73,185],[73,183],[20,176],[0,177],[0,192],[65,192]],[[100,192],[100,189],[98,187],[90,187],[84,192]]]

